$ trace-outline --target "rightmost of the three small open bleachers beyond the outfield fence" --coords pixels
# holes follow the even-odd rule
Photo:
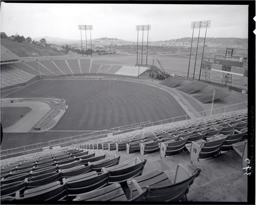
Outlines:
[[[195,99],[199,100],[201,103],[209,103],[212,101],[214,90],[215,90],[214,100],[218,100],[218,99],[221,99],[223,97],[227,97],[228,95],[230,95],[230,93],[227,93],[221,89],[213,88],[208,91],[204,91],[204,92],[195,94],[195,95],[193,95],[193,97],[195,97]]]

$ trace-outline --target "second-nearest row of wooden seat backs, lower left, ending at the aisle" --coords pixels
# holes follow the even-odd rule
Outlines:
[[[98,162],[99,165],[101,162]],[[55,185],[65,184],[62,190],[66,200],[73,199],[76,195],[105,187],[113,183],[124,185],[127,179],[140,176],[143,172],[146,159],[141,161],[136,158],[135,164],[113,165],[102,168],[102,171],[90,171],[87,173],[76,173],[72,177],[61,177],[60,173],[52,172],[41,174],[37,177],[26,178],[8,185],[1,185],[1,198],[12,196],[17,200],[39,200],[31,197],[32,193],[41,192]],[[17,193],[16,193],[17,192]],[[61,197],[61,199],[64,199]],[[4,200],[4,199],[1,199]]]

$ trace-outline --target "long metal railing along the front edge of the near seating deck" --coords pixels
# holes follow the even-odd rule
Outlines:
[[[27,150],[31,150],[31,149],[47,147],[47,146],[52,146],[52,145],[59,145],[59,144],[67,143],[67,142],[76,142],[76,140],[81,141],[85,138],[93,139],[93,137],[95,137],[95,139],[99,139],[99,138],[104,137],[104,136],[102,136],[103,134],[113,133],[114,131],[120,131],[120,130],[129,129],[129,128],[138,128],[138,127],[145,128],[145,127],[150,127],[150,126],[154,126],[154,125],[162,125],[162,124],[166,124],[166,123],[170,123],[170,122],[177,122],[177,121],[181,121],[181,120],[195,119],[198,117],[191,118],[191,116],[193,116],[193,115],[195,116],[198,114],[201,117],[207,117],[207,116],[211,115],[211,112],[212,112],[212,115],[215,115],[215,114],[223,114],[223,113],[227,113],[227,112],[231,112],[231,111],[243,110],[243,109],[247,109],[247,104],[248,104],[248,102],[237,103],[234,105],[227,105],[227,106],[220,107],[220,108],[214,108],[212,110],[211,109],[205,110],[205,111],[201,111],[201,112],[197,112],[197,113],[193,113],[193,114],[186,114],[183,116],[172,117],[172,118],[165,119],[165,120],[158,120],[155,122],[150,122],[150,121],[139,122],[139,123],[134,123],[131,125],[124,125],[121,127],[111,128],[109,130],[105,129],[102,131],[96,131],[96,132],[91,132],[91,133],[87,133],[87,134],[80,134],[80,135],[75,135],[75,136],[71,136],[71,137],[65,137],[65,138],[61,138],[58,140],[51,140],[48,142],[40,142],[40,143],[36,143],[33,145],[26,145],[26,146],[17,147],[17,148],[1,150],[0,155],[12,154],[12,153],[16,153],[16,152],[27,151]],[[86,140],[88,140],[88,139],[86,139]]]

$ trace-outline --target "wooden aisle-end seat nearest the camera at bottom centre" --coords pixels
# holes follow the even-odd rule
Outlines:
[[[130,189],[130,198],[143,196],[143,201],[188,201],[186,195],[194,179],[199,176],[201,170],[190,174],[183,165],[178,165],[174,183],[161,170],[156,170],[140,177],[127,181]]]

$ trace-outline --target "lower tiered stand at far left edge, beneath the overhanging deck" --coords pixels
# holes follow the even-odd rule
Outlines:
[[[1,88],[26,83],[33,77],[35,77],[35,75],[15,68],[10,64],[1,65]]]

